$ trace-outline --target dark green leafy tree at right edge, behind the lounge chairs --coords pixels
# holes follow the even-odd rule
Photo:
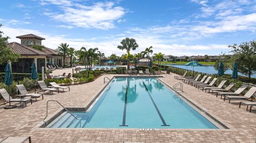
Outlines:
[[[229,45],[233,48],[231,51],[233,60],[237,61],[238,72],[248,75],[251,80],[251,75],[256,73],[256,41],[245,42],[237,46],[237,44]]]

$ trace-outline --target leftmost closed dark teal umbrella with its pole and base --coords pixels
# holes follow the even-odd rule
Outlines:
[[[12,85],[12,72],[11,72],[11,66],[9,63],[6,64],[5,69],[4,69],[4,83],[6,86],[8,86],[8,89],[10,89],[10,86]],[[15,108],[16,106],[11,106],[11,96],[9,94],[9,106],[4,107],[5,109],[10,109],[10,108]]]

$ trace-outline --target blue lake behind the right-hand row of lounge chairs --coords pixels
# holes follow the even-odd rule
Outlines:
[[[165,65],[167,65],[167,66],[174,66],[174,67],[176,67],[176,68],[181,68],[181,69],[186,69],[186,70],[191,70],[191,71],[193,71],[193,66],[177,65],[177,64],[165,64]],[[206,66],[206,65],[205,65],[205,66],[195,66],[194,71],[197,71],[197,72],[204,72],[204,73],[208,73],[208,74],[217,74],[217,73],[218,73],[218,71],[216,71],[216,70],[214,69],[214,67],[211,66],[211,65],[207,65],[207,66]],[[225,74],[232,74],[232,70],[227,70],[227,71],[225,72]],[[238,72],[238,75],[242,75],[242,76],[247,77],[246,75],[244,75],[244,74],[242,74],[242,73],[239,73],[239,72]],[[256,74],[253,74],[251,77],[252,77],[252,78],[256,78]]]

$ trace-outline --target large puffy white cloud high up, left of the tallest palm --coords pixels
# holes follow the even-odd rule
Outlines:
[[[121,6],[114,6],[113,2],[96,3],[92,6],[75,4],[73,7],[61,6],[62,12],[44,12],[50,18],[69,23],[82,28],[111,29],[114,21],[119,20],[125,14]]]

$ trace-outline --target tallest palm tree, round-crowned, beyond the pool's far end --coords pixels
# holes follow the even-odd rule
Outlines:
[[[125,38],[121,41],[121,45],[118,45],[117,48],[118,49],[126,49],[127,54],[130,54],[131,50],[135,50],[139,47],[139,45],[136,43],[136,40],[133,38]],[[130,70],[130,57],[128,56],[127,59],[127,69]]]

